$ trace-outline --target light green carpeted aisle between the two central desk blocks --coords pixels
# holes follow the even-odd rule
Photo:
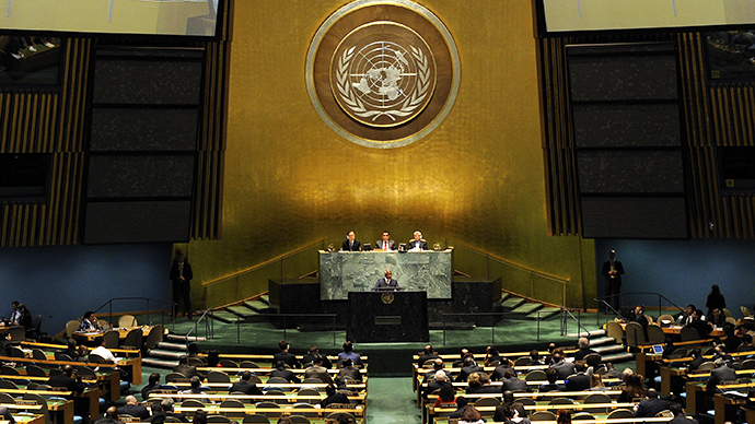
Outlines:
[[[422,422],[411,390],[411,377],[370,377],[367,424]]]

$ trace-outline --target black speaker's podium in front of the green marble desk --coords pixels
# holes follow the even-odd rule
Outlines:
[[[349,292],[346,338],[357,343],[428,342],[426,292]]]

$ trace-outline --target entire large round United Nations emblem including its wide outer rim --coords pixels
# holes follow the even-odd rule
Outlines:
[[[329,16],[306,59],[312,104],[337,133],[373,148],[430,133],[458,91],[458,52],[433,13],[409,0],[358,0]]]

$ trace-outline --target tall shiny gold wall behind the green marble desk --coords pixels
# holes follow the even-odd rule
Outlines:
[[[419,2],[454,36],[461,89],[432,133],[388,150],[338,137],[306,93],[312,36],[347,1],[234,2],[222,238],[189,244],[195,285],[348,229],[418,228],[571,279],[572,306],[594,296],[592,242],[548,236],[531,0]]]

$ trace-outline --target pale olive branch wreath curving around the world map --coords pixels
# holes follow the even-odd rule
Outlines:
[[[405,117],[411,115],[425,101],[430,89],[430,61],[422,50],[415,46],[411,48],[411,56],[417,60],[418,84],[410,96],[406,97],[404,104],[399,109],[392,110],[368,110],[364,107],[362,99],[351,90],[349,84],[349,66],[355,55],[356,46],[344,50],[344,54],[338,58],[338,70],[336,72],[336,87],[341,95],[344,103],[351,109],[351,111],[360,118],[372,118],[372,121],[381,116],[396,120],[396,117]]]

